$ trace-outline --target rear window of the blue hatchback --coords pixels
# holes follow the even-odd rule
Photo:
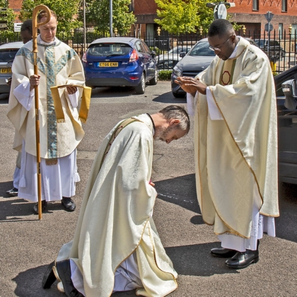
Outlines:
[[[124,43],[98,43],[88,48],[87,54],[96,57],[110,57],[126,55],[131,52],[132,47]]]

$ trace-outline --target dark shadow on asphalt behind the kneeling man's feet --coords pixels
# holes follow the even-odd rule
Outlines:
[[[13,281],[16,282],[14,293],[19,297],[54,297],[65,296],[57,289],[57,281],[52,284],[50,289],[42,289],[42,278],[47,269],[47,265],[31,268],[25,272],[19,273]],[[41,295],[42,292],[42,295]]]

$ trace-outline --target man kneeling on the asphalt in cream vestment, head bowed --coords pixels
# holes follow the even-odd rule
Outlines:
[[[151,182],[153,139],[169,144],[189,129],[187,112],[176,105],[112,129],[91,168],[74,240],[49,266],[44,289],[56,277],[67,297],[107,297],[132,289],[161,297],[177,288],[177,273],[152,218],[157,195]]]

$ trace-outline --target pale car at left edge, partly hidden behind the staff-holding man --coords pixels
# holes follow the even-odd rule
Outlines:
[[[23,42],[10,42],[0,45],[0,93],[9,93],[11,86],[8,80],[11,78],[11,65],[16,53],[23,47]]]

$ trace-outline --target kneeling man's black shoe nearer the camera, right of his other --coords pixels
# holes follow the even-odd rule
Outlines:
[[[67,297],[83,297],[83,294],[79,293],[71,280],[71,267],[70,260],[64,260],[56,263],[57,273],[59,279],[62,281],[64,292]],[[58,278],[57,278],[58,279]]]

